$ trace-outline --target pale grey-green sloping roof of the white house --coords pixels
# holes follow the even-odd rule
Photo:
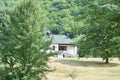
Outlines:
[[[75,44],[70,38],[65,35],[51,35],[52,43],[54,44],[66,44],[66,45],[73,45]]]

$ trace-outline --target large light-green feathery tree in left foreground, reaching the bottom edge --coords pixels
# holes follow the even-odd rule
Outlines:
[[[41,80],[50,71],[45,13],[38,3],[23,0],[0,14],[0,80]]]

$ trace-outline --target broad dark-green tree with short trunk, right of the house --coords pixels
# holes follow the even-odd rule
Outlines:
[[[101,56],[106,63],[119,55],[120,7],[110,1],[88,2],[82,9],[85,36],[78,42],[80,53]]]

